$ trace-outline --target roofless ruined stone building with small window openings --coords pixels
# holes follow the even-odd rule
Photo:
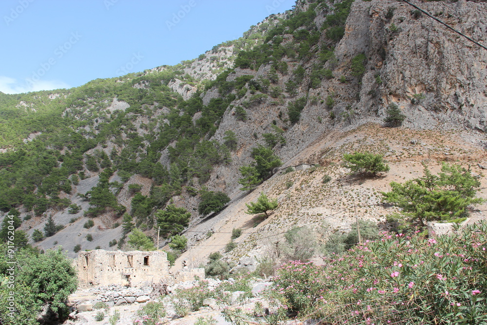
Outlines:
[[[172,278],[164,251],[82,251],[77,268],[80,285],[134,287]]]

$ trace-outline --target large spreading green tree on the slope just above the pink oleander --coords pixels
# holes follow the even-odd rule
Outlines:
[[[424,165],[424,174],[404,184],[392,182],[392,190],[382,192],[384,201],[402,208],[413,224],[424,227],[427,221],[463,217],[469,205],[483,201],[475,198],[480,182],[469,169],[443,164],[441,172],[433,175]]]

